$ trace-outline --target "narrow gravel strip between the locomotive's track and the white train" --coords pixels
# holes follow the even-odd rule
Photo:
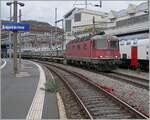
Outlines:
[[[117,73],[129,75],[129,76],[149,80],[149,73],[146,73],[146,72],[138,72],[138,71],[133,71],[133,70],[129,70],[129,69],[120,69],[120,68],[113,70],[113,71],[117,72]]]

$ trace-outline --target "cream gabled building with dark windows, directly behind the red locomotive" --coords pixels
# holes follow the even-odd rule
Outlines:
[[[107,13],[85,8],[73,8],[64,15],[64,21],[66,44],[75,39],[75,35],[78,33],[83,31],[93,32],[94,29],[102,30],[110,22]]]

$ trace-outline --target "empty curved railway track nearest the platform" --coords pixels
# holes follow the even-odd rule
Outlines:
[[[68,86],[89,119],[148,118],[85,76],[47,62],[40,63]]]

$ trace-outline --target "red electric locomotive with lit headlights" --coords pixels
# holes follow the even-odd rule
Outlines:
[[[66,46],[68,64],[111,71],[117,67],[119,59],[119,39],[107,34],[75,39]]]

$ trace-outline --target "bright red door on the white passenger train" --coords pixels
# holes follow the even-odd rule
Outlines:
[[[131,47],[131,66],[138,66],[138,48],[137,46]]]

